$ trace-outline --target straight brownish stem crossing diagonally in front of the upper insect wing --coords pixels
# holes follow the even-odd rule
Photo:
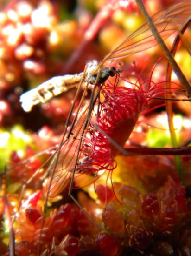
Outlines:
[[[182,73],[180,67],[178,66],[177,62],[174,60],[172,53],[169,51],[169,49],[166,47],[166,44],[164,43],[164,41],[162,40],[158,30],[156,29],[153,20],[151,19],[151,17],[149,16],[149,14],[146,11],[146,8],[142,2],[142,0],[135,0],[137,5],[140,7],[141,12],[143,13],[143,15],[145,16],[148,26],[150,27],[153,36],[155,37],[156,41],[159,44],[159,47],[162,49],[162,51],[164,52],[166,59],[168,60],[168,62],[170,63],[170,65],[172,66],[174,72],[176,73],[178,80],[180,81],[180,83],[185,87],[189,97],[191,98],[191,86],[190,83],[187,81],[185,75]]]

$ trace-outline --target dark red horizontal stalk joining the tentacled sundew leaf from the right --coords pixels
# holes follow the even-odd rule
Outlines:
[[[191,147],[179,147],[179,148],[124,148],[129,153],[137,155],[191,155]],[[122,153],[124,154],[124,151]]]

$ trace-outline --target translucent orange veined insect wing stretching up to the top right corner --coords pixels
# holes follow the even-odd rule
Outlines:
[[[184,1],[153,15],[154,25],[163,40],[177,32],[191,18],[191,1]],[[154,47],[157,42],[147,23],[129,35],[118,47],[110,52],[100,65],[106,61],[121,59]]]

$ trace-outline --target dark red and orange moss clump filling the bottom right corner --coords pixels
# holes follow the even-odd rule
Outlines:
[[[186,200],[185,187],[179,181],[169,178],[158,193],[145,195],[122,185],[118,186],[117,195],[123,204],[111,200],[103,210],[102,220],[108,231],[123,234],[121,245],[141,253],[153,251],[154,255],[159,255],[156,247],[160,246],[164,255],[188,247],[188,233],[182,230],[191,228],[191,200]],[[164,236],[166,242],[158,240]]]

